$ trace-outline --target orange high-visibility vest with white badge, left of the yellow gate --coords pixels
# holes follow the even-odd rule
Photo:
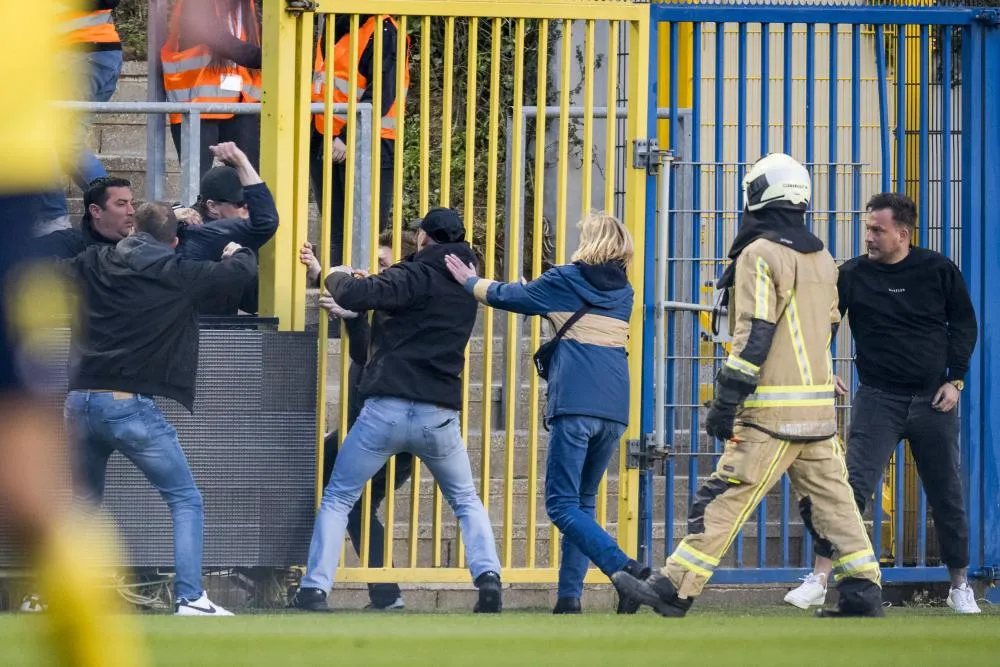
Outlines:
[[[212,67],[212,52],[204,44],[180,49],[180,17],[185,0],[178,0],[170,19],[170,29],[160,50],[163,64],[163,88],[170,102],[259,102],[261,96],[260,70],[250,70],[229,63],[222,67]],[[259,31],[256,3],[251,3],[251,11],[246,21],[240,21],[239,38],[246,41],[249,30]],[[227,19],[231,17],[226,17]],[[236,90],[236,82],[239,90]],[[202,114],[202,119],[227,120],[233,114]],[[181,122],[180,114],[170,114],[169,122]]]

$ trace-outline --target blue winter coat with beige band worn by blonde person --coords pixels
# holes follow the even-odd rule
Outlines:
[[[487,305],[543,315],[558,330],[585,303],[593,309],[566,332],[549,368],[548,417],[584,415],[628,424],[628,321],[632,286],[619,264],[557,266],[530,283],[470,278]]]

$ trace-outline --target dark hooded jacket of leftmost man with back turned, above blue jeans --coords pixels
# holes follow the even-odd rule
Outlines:
[[[257,263],[246,248],[219,262],[184,259],[146,233],[90,246],[63,264],[84,299],[69,388],[171,398],[193,409],[197,302],[242,290]]]

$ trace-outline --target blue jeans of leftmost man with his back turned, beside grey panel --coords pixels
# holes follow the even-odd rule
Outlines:
[[[66,431],[73,445],[73,486],[78,501],[104,498],[108,457],[118,451],[135,464],[170,507],[174,525],[174,593],[197,600],[202,594],[201,553],[205,510],[177,431],[152,398],[118,398],[108,391],[71,391],[66,397]]]

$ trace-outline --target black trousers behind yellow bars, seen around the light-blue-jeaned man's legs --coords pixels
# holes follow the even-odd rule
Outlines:
[[[323,453],[323,487],[330,482],[333,464],[337,460],[337,450],[340,446],[340,434],[337,431],[326,436]],[[378,520],[378,507],[385,500],[386,476],[389,474],[388,464],[372,477],[372,507],[368,517],[368,566],[382,567],[385,564],[385,528]],[[396,476],[393,488],[399,489],[413,474],[413,455],[399,454],[396,456]],[[347,534],[351,537],[354,553],[361,555],[361,499],[354,503],[351,513],[347,515]],[[389,527],[392,530],[392,526]],[[396,584],[368,584],[368,598],[376,607],[387,607],[400,596]]]

